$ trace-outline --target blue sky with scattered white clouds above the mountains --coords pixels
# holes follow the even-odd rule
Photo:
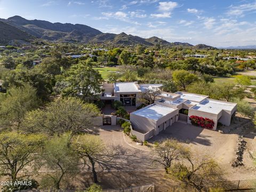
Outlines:
[[[14,15],[193,45],[256,45],[256,0],[0,0],[0,18]]]

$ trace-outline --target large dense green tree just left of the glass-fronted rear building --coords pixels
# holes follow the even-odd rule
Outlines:
[[[67,75],[66,82],[68,82],[69,86],[62,91],[64,95],[87,99],[101,92],[101,75],[98,70],[94,70],[92,66],[87,65],[85,61],[81,61],[77,65],[72,66],[68,70]]]

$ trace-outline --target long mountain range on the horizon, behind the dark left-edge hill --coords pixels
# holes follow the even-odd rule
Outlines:
[[[127,35],[125,33],[121,34],[111,34],[102,33],[101,31],[94,29],[92,27],[81,25],[81,24],[71,24],[71,23],[51,23],[49,21],[43,20],[27,20],[20,16],[10,17],[8,19],[0,19],[12,26],[10,31],[10,37],[14,34],[20,34],[25,38],[25,34],[30,34],[30,36],[35,36],[37,38],[46,39],[48,41],[60,41],[60,42],[82,42],[82,43],[103,43],[109,45],[162,45],[162,46],[186,46],[193,47],[189,43],[174,42],[170,43],[164,39],[158,37],[142,38],[133,35]],[[9,27],[10,28],[10,27]],[[18,28],[18,29],[17,29]],[[18,33],[18,31],[21,31]],[[1,35],[1,34],[0,34]],[[15,35],[14,35],[15,37]],[[31,38],[31,37],[28,37]],[[207,49],[211,46],[207,45],[196,45],[198,49]]]

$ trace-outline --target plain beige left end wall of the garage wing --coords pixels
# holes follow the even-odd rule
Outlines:
[[[156,121],[139,115],[130,114],[130,121],[135,129],[141,130],[146,133],[156,129]]]

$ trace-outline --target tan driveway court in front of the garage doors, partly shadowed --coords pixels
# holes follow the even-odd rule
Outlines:
[[[194,153],[209,155],[223,165],[227,165],[235,159],[236,134],[221,134],[218,131],[175,122],[165,131],[151,138],[149,142],[154,143],[166,138],[175,138],[190,147]]]

